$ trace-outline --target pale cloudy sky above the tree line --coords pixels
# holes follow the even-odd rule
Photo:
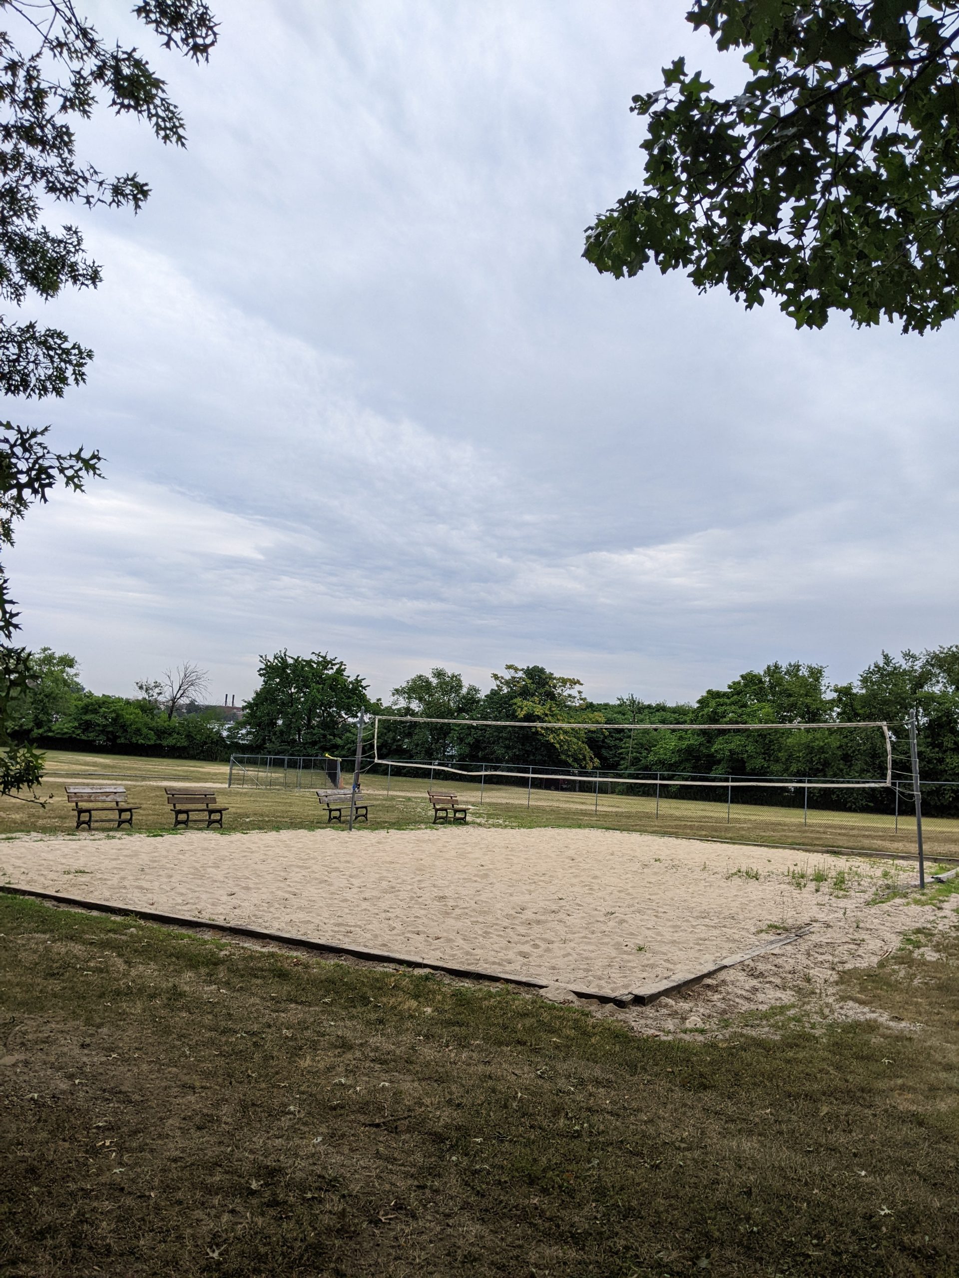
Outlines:
[[[125,8],[88,12],[129,33]],[[641,183],[630,96],[680,52],[738,79],[685,5],[220,8],[207,68],[156,52],[188,151],[82,135],[144,211],[56,215],[105,282],[42,314],[96,360],[4,415],[109,478],[20,529],[31,647],[119,694],[191,659],[239,702],[285,647],[378,694],[542,662],[671,699],[959,639],[959,328],[798,334],[581,258]]]

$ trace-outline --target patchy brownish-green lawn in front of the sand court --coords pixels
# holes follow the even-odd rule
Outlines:
[[[683,1040],[13,896],[0,933],[4,1274],[959,1272],[955,932],[843,978],[886,1020]]]

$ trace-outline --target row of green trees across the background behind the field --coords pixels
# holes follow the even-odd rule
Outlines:
[[[32,666],[36,677],[19,704],[17,735],[46,748],[199,759],[226,759],[233,753],[329,753],[349,759],[363,711],[384,716],[380,754],[396,760],[451,766],[465,760],[624,777],[881,778],[885,744],[873,728],[712,732],[692,725],[887,721],[895,766],[904,773],[904,721],[914,707],[923,780],[959,780],[959,644],[899,657],[884,652],[848,684],[830,682],[825,666],[772,662],[680,703],[634,693],[589,700],[581,680],[538,665],[508,665],[492,675],[486,693],[455,671],[433,667],[381,700],[371,698],[366,679],[329,653],[303,657],[281,651],[261,657],[260,686],[237,717],[202,704],[206,677],[189,662],[160,680],[141,680],[138,695],[129,698],[86,689],[75,658],[65,653],[43,648],[32,654]],[[531,728],[500,726],[505,721],[523,721]],[[656,723],[679,728],[643,727]],[[602,731],[604,725],[623,730]],[[684,731],[684,725],[690,727]]]

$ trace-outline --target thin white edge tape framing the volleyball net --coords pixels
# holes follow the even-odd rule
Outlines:
[[[780,789],[795,789],[797,786],[807,786],[816,790],[876,790],[886,789],[893,786],[893,737],[889,734],[889,723],[884,720],[868,721],[868,722],[855,722],[855,723],[533,723],[528,720],[444,720],[444,718],[421,718],[418,714],[375,714],[373,716],[373,763],[390,763],[398,768],[435,768],[439,772],[450,772],[460,777],[474,777],[478,776],[476,772],[469,772],[467,768],[458,768],[451,763],[416,763],[407,759],[382,759],[380,758],[380,720],[384,718],[387,723],[450,723],[459,727],[526,727],[526,728],[538,728],[541,732],[550,732],[557,728],[577,728],[581,732],[589,731],[619,731],[619,732],[771,732],[771,731],[793,731],[803,732],[818,728],[836,730],[836,728],[852,728],[852,727],[877,727],[881,728],[882,736],[886,743],[886,780],[885,781],[813,781],[812,778],[795,777],[793,780],[785,781],[771,781],[765,777],[756,777],[748,781],[731,781],[729,777],[717,777],[715,781],[698,780],[698,781],[673,781],[664,780],[662,785],[669,786],[724,786],[733,789],[737,787],[754,787],[754,786],[779,786]],[[589,769],[582,769],[587,772]],[[582,774],[557,774],[556,772],[532,772],[527,769],[524,772],[513,772],[506,768],[483,768],[483,774],[487,777],[522,777],[524,781],[533,777],[538,781],[584,781],[586,777]],[[657,781],[652,776],[647,777],[601,777],[601,781],[612,781],[616,785],[623,786],[648,786],[656,785]]]

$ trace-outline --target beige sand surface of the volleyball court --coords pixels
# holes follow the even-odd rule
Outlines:
[[[827,875],[818,883],[817,870]],[[855,856],[596,829],[93,833],[0,845],[0,882],[13,886],[602,993],[702,970],[776,927],[813,925],[786,947],[803,947],[813,966],[823,953],[832,967],[875,962],[926,919],[901,901],[866,901],[914,874]]]

